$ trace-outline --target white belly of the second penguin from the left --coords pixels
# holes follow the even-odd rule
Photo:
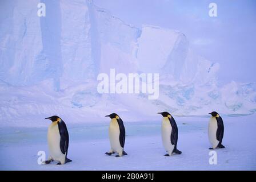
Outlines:
[[[110,126],[109,126],[109,139],[110,139],[110,146],[114,150],[114,152],[122,152],[123,147],[121,147],[119,141],[119,125],[117,119],[111,119]]]

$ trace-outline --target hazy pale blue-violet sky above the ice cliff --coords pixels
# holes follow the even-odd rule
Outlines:
[[[217,17],[209,16],[209,3]],[[126,23],[183,32],[199,55],[221,64],[219,80],[256,81],[256,1],[94,0]]]

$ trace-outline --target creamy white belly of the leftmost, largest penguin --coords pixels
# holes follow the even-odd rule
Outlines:
[[[48,129],[47,138],[51,158],[53,158],[54,160],[58,160],[61,163],[65,163],[66,154],[63,154],[61,152],[61,135],[59,134],[59,128],[57,123],[51,123]]]

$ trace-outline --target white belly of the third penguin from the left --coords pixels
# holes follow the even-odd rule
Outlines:
[[[174,149],[174,145],[171,144],[171,123],[167,117],[163,118],[162,121],[162,142],[165,150],[171,155]]]

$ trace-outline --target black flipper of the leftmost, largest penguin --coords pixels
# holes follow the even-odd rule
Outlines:
[[[67,148],[69,148],[69,133],[67,131],[67,126],[64,121],[58,122],[59,135],[61,135],[61,142],[59,146],[61,147],[62,154],[67,155]]]

